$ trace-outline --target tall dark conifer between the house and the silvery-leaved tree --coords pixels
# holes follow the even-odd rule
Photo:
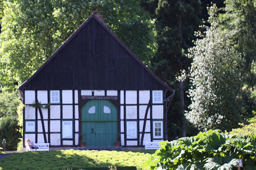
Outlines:
[[[177,116],[170,115],[169,118],[178,117],[182,120],[180,126],[183,128],[182,136],[185,136],[184,110],[187,98],[184,94],[187,86],[186,72],[191,63],[186,53],[188,53],[188,48],[193,46],[194,31],[197,31],[201,24],[200,1],[142,0],[141,5],[156,18],[158,50],[153,60],[153,70],[159,78],[176,90],[173,101],[174,105],[178,107],[178,111],[175,110],[172,113]],[[179,101],[179,103],[175,103],[175,101]]]

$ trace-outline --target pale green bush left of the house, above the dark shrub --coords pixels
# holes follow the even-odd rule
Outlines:
[[[17,92],[0,92],[0,117],[13,116],[18,118],[17,107],[20,103]]]

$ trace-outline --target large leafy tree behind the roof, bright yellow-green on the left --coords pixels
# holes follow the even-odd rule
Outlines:
[[[3,90],[12,90],[34,74],[92,10],[103,10],[110,29],[142,60],[148,61],[155,53],[154,24],[137,0],[21,0],[4,1],[3,6]],[[146,64],[150,66],[149,62]]]

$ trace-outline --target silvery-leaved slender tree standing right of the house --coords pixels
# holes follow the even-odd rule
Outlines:
[[[216,6],[209,12],[211,26],[191,49],[192,104],[186,117],[200,131],[216,128],[230,131],[238,127],[244,113],[244,103],[239,97],[243,86],[239,67],[243,59],[231,36],[218,29]]]

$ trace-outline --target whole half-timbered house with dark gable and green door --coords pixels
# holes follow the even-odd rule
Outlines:
[[[126,147],[167,140],[167,99],[174,90],[95,14],[18,93],[25,104],[23,138],[34,143],[76,147],[83,137],[87,146],[120,140]]]

